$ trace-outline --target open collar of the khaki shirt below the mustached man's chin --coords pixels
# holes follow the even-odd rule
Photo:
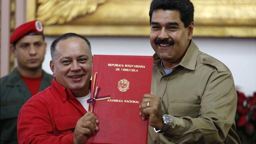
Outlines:
[[[195,42],[191,40],[186,54],[178,65],[190,70],[195,70],[198,53],[199,48],[197,47]],[[161,65],[161,59],[156,53],[153,55],[153,58],[155,66]]]

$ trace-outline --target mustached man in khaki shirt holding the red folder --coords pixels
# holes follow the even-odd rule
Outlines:
[[[237,95],[230,70],[192,40],[189,0],[153,0],[149,11],[154,51],[152,94],[140,105],[148,144],[240,144]]]

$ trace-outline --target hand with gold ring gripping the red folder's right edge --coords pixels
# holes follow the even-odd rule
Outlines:
[[[147,103],[149,102],[149,106]],[[140,115],[142,119],[148,119],[148,124],[157,129],[164,126],[162,120],[161,101],[158,96],[152,94],[144,94],[140,104]]]

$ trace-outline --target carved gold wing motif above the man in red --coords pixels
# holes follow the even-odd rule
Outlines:
[[[64,24],[96,11],[105,0],[38,0],[37,19],[44,25]]]

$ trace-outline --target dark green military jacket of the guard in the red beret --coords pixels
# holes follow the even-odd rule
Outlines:
[[[51,85],[53,76],[43,71],[39,91]],[[1,84],[1,144],[16,144],[17,118],[22,105],[31,97],[31,93],[22,80],[17,68],[0,79]]]

